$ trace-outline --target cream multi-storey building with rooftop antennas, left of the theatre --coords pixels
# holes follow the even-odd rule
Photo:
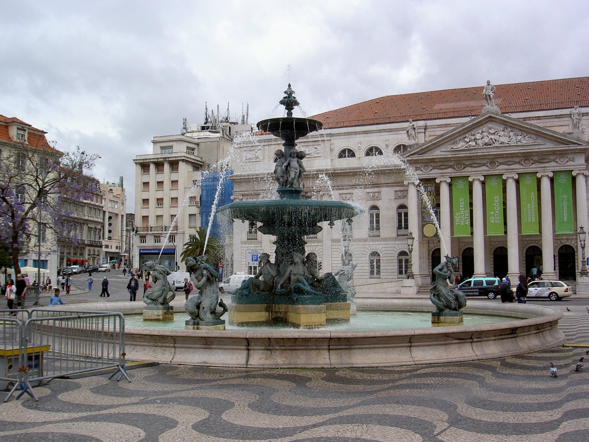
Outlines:
[[[225,117],[220,118],[219,111],[215,116],[206,110],[205,115],[203,124],[190,125],[185,118],[178,135],[154,137],[152,153],[133,160],[133,266],[157,259],[161,252],[162,265],[172,271],[185,269],[179,258],[182,246],[197,227],[207,225],[201,220],[203,172],[228,156],[234,137],[252,132],[246,117],[231,121],[229,109]],[[204,209],[210,213],[210,207]]]

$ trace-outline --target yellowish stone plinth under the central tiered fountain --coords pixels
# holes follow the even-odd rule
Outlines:
[[[321,305],[241,304],[229,311],[231,325],[258,325],[287,322],[296,328],[322,328],[328,322],[349,322],[349,302]]]

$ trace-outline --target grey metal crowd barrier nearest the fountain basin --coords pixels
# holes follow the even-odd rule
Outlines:
[[[5,401],[17,387],[22,388],[17,399],[27,392],[38,400],[31,387],[100,369],[114,368],[109,379],[120,373],[117,380],[124,376],[131,382],[125,372],[123,314],[51,308],[33,309],[27,314],[27,321],[20,321],[21,370],[16,381],[11,380],[15,387]]]

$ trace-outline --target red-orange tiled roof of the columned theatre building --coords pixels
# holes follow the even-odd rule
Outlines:
[[[501,113],[589,106],[589,77],[498,84],[495,104]],[[460,89],[386,95],[314,115],[323,127],[365,126],[397,121],[434,120],[481,114],[483,85]]]

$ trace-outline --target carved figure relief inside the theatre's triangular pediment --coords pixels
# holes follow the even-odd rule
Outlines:
[[[442,150],[472,149],[474,147],[513,146],[515,144],[541,144],[544,141],[523,131],[509,127],[496,127],[489,124],[477,131],[471,131],[464,137],[458,138],[450,146]]]

